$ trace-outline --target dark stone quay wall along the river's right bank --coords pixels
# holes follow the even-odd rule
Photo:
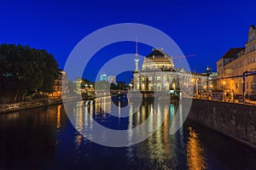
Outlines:
[[[189,119],[256,148],[256,105],[193,99]]]

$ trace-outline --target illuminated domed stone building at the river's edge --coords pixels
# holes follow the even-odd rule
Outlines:
[[[138,68],[138,55],[136,55],[135,62],[136,69],[133,71],[134,91],[150,92],[183,89],[183,91],[198,92],[200,89],[206,88],[206,75],[191,73],[183,68],[175,68],[172,56],[166,54],[162,48],[154,48],[144,58],[141,70]]]

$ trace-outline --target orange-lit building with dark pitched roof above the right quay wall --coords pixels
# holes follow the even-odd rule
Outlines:
[[[245,48],[230,48],[217,61],[218,89],[242,94],[242,78],[244,71],[256,71],[256,27],[249,26]],[[256,75],[247,76],[245,80],[246,94],[256,94]]]

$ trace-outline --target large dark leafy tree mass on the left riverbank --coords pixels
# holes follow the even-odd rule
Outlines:
[[[46,50],[0,45],[0,94],[13,101],[35,91],[52,92],[57,71],[57,62]]]

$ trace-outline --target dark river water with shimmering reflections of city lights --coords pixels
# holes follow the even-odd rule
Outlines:
[[[256,169],[256,150],[195,122],[186,120],[171,135],[175,104],[144,100],[135,114],[120,117],[126,111],[122,108],[129,111],[132,104],[118,99],[100,102],[74,104],[74,126],[63,105],[0,115],[0,169]],[[161,123],[154,108],[166,119],[139,144],[102,146],[77,130],[91,128],[92,120],[113,129],[136,127],[148,116],[154,117],[153,124]],[[114,110],[119,116],[109,114]]]

